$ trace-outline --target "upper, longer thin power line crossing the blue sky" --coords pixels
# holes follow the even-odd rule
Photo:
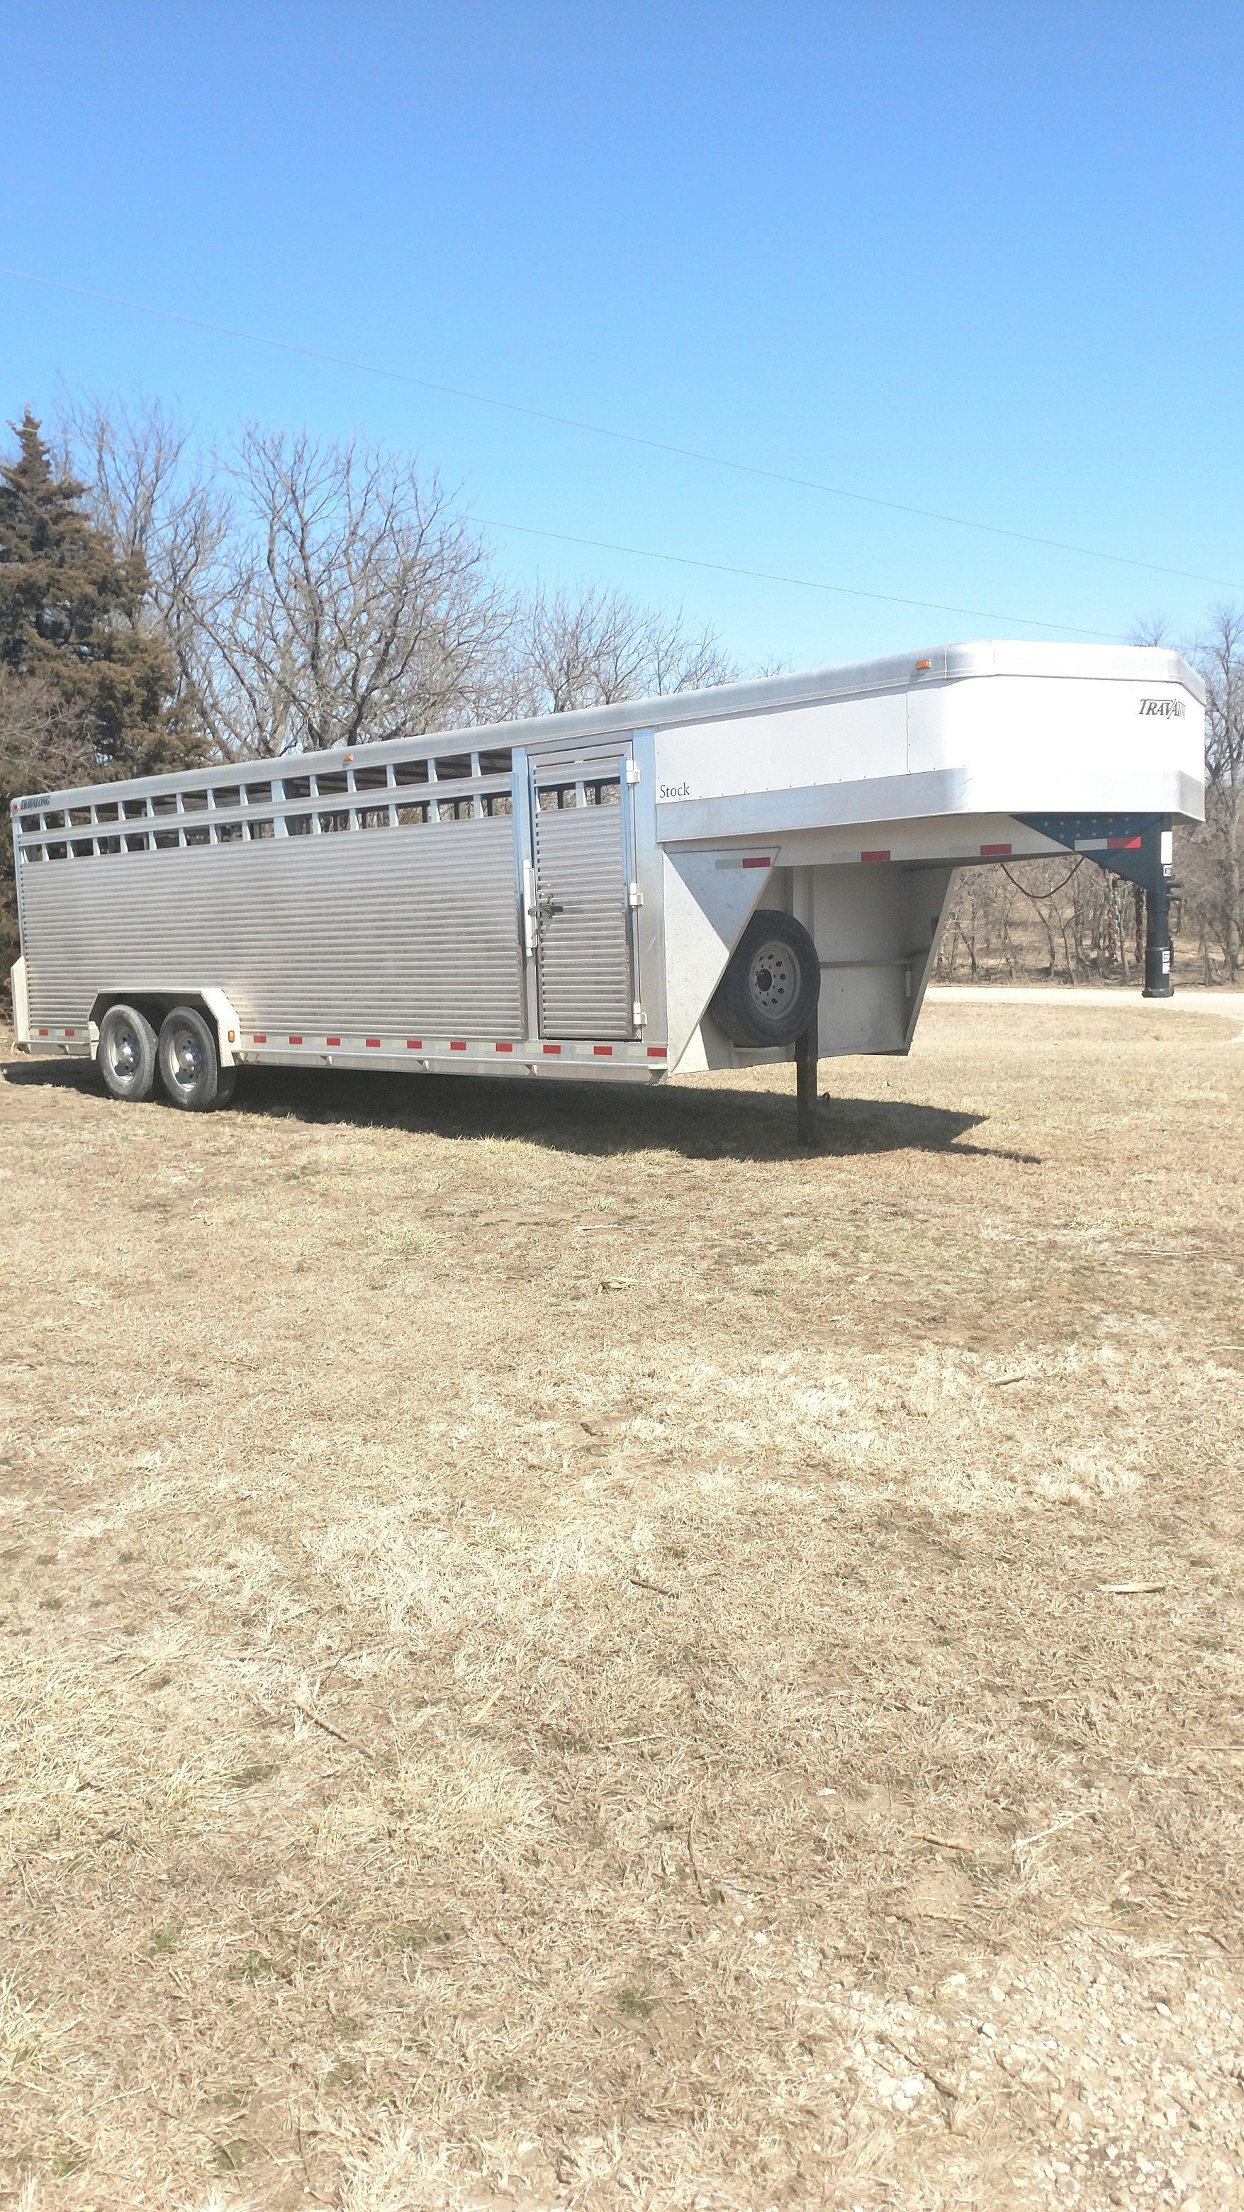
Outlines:
[[[635,445],[649,453],[668,453],[675,460],[697,460],[711,469],[730,469],[735,476],[757,476],[768,484],[788,484],[797,491],[819,491],[832,500],[852,500],[857,507],[881,507],[892,515],[914,515],[921,522],[947,522],[958,531],[981,531],[989,538],[1009,538],[1016,544],[1045,546],[1047,553],[1076,553],[1082,560],[1105,560],[1118,568],[1142,568],[1147,575],[1173,575],[1184,584],[1213,584],[1220,591],[1244,591],[1244,584],[1231,584],[1220,575],[1198,575],[1195,568],[1169,568],[1162,562],[1136,560],[1129,553],[1105,553],[1100,546],[1078,546],[1065,542],[1062,538],[1038,538],[1034,531],[1014,531],[1001,522],[976,522],[972,515],[947,515],[934,507],[908,507],[903,500],[883,500],[872,491],[850,491],[846,484],[821,484],[808,476],[786,476],[781,469],[764,469],[759,462],[733,460],[726,453],[704,453],[688,445],[668,445],[664,438],[644,438],[637,431],[613,429],[607,422],[587,422],[578,416],[551,414],[547,407],[525,407],[520,400],[500,400],[489,392],[469,392],[463,385],[440,385],[429,376],[412,376],[407,369],[387,369],[374,361],[354,361],[348,354],[328,354],[314,345],[294,345],[290,338],[270,338],[259,330],[239,330],[232,323],[212,323],[201,314],[182,314],[177,307],[153,307],[148,301],[124,299],[117,292],[95,292],[89,285],[64,283],[60,276],[35,276],[31,270],[13,270],[4,265],[0,265],[0,276],[13,276],[18,283],[42,285],[49,292],[73,292],[77,299],[95,299],[106,307],[128,307],[135,314],[153,314],[164,323],[184,323],[190,330],[210,330],[219,338],[243,338],[248,345],[268,345],[272,352],[297,354],[301,361],[323,361],[330,367],[354,369],[361,376],[383,376],[387,383],[412,385],[418,392],[440,392],[445,398],[469,400],[474,407],[496,407],[502,414],[527,416],[531,422],[556,422],[560,429],[578,429],[591,438],[613,438],[618,445]],[[879,593],[865,593],[865,597],[879,597]],[[916,606],[921,602],[908,599],[901,604]],[[958,611],[954,608],[952,613]],[[1058,628],[1058,624],[1040,624],[1040,628]]]

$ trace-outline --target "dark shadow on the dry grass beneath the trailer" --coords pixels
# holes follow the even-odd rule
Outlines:
[[[64,1062],[9,1062],[4,1082],[100,1093],[93,1068]],[[113,1108],[111,1108],[113,1110]],[[173,1110],[173,1108],[168,1108]],[[553,1152],[675,1152],[684,1159],[806,1157],[795,1135],[795,1099],[768,1088],[607,1088],[593,1084],[511,1084],[465,1075],[352,1075],[319,1068],[243,1068],[228,1117],[292,1119],[308,1126],[421,1130],[447,1139],[538,1144]],[[908,1099],[821,1093],[817,1150],[961,1152],[1040,1166],[1014,1152],[961,1139],[985,1115]]]

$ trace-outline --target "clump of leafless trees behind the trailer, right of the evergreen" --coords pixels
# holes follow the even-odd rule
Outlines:
[[[151,573],[177,710],[219,759],[719,684],[708,630],[584,586],[514,595],[414,462],[361,442],[246,431],[195,451],[159,405],[62,411],[97,522]]]

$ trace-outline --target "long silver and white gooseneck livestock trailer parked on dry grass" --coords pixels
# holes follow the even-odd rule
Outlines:
[[[958,867],[1144,883],[1204,692],[1149,646],[983,641],[13,801],[15,1042],[182,1106],[246,1064],[664,1082],[905,1053]]]

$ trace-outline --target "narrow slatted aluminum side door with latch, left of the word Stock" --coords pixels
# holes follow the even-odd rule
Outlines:
[[[631,748],[531,761],[542,1037],[633,1037]]]

